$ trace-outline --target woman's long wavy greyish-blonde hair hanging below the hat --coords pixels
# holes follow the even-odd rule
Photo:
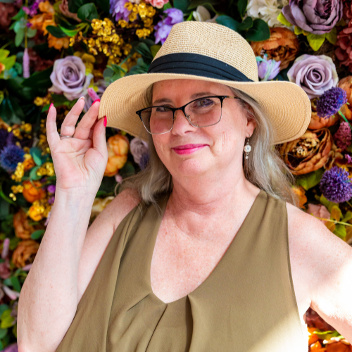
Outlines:
[[[234,96],[239,97],[238,101],[244,113],[257,123],[250,138],[252,150],[249,159],[243,158],[242,163],[246,179],[275,199],[298,206],[298,196],[292,189],[295,177],[273,144],[274,135],[270,119],[255,99],[238,89],[229,88]],[[146,106],[151,106],[153,84],[146,90],[145,99]],[[148,137],[149,163],[144,170],[127,177],[118,187],[119,191],[135,189],[145,205],[156,204],[158,195],[172,191],[172,176],[156,153],[151,134],[148,134]]]

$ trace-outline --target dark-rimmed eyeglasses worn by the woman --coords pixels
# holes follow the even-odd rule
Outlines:
[[[175,111],[182,110],[184,116],[193,127],[209,127],[221,120],[222,101],[226,98],[239,99],[237,96],[215,95],[189,101],[180,108],[171,106],[151,106],[136,111],[146,131],[150,134],[164,134],[172,130]]]

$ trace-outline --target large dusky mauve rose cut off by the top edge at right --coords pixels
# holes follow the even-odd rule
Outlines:
[[[341,20],[342,10],[342,0],[291,0],[282,13],[292,25],[312,34],[324,34]]]

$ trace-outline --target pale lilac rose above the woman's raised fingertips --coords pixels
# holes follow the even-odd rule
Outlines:
[[[86,67],[82,58],[78,56],[66,56],[56,60],[50,75],[53,87],[49,89],[49,92],[63,93],[68,100],[86,95],[93,75],[92,73],[86,75],[85,72]]]

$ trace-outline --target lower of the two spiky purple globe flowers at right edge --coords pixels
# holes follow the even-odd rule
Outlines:
[[[352,183],[348,172],[337,166],[324,172],[319,187],[325,198],[334,203],[343,203],[352,197]]]

